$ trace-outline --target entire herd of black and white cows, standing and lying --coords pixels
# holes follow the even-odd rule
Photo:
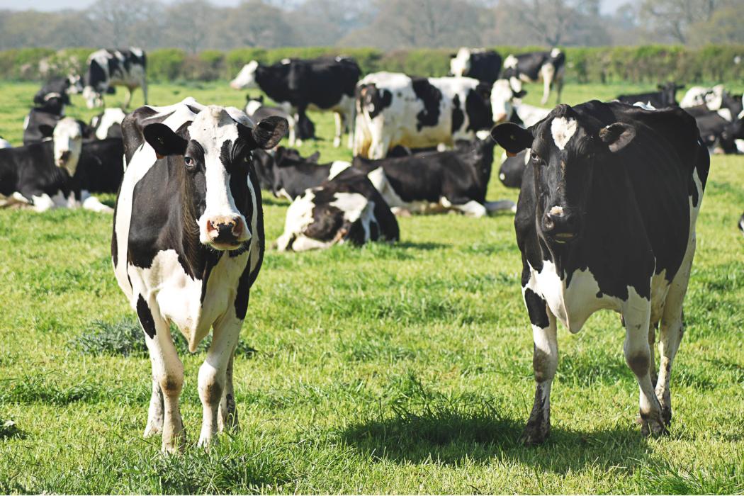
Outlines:
[[[192,351],[214,328],[199,369],[199,444],[237,426],[233,357],[266,245],[261,190],[292,202],[276,242],[283,251],[394,241],[396,215],[515,210],[536,379],[525,442],[543,442],[550,431],[557,321],[578,332],[599,309],[622,315],[641,430],[667,430],[708,148],[735,152],[744,139],[740,96],[692,88],[678,106],[679,88],[670,84],[541,109],[521,103],[522,82],[542,80],[544,103],[553,87],[559,98],[561,51],[510,55],[502,65],[496,52],[463,48],[452,56],[451,77],[361,77],[344,57],[253,61],[231,86],[260,88],[277,106],[249,97],[241,110],[187,98],[127,115],[107,109],[87,124],[64,117],[74,91],[91,106],[115,85],[129,96],[141,87],[147,100],[145,64],[135,48],[99,51],[84,86],[65,78],[42,88],[24,146],[0,150],[0,200],[104,211],[89,191],[118,191],[112,261],[152,358],[145,434],[162,434],[164,450],[185,435],[171,323]],[[308,109],[335,113],[334,144],[347,132],[353,161],[318,164],[317,153],[278,146],[287,132],[290,144],[313,137]],[[521,188],[516,205],[486,199],[495,144],[507,155],[501,181]]]

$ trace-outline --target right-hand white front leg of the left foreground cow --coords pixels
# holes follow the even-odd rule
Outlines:
[[[199,367],[199,398],[202,400],[202,434],[199,435],[199,446],[208,446],[217,434],[217,414],[222,393],[225,392],[228,363],[240,337],[242,323],[233,310],[231,315],[225,315],[214,325],[212,344],[204,364]]]

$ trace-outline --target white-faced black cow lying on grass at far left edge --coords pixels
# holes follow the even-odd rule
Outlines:
[[[51,141],[0,149],[0,206],[37,212],[58,207],[112,212],[89,196],[77,179],[82,149],[80,123],[71,117],[57,123]],[[118,163],[121,167],[121,155]]]

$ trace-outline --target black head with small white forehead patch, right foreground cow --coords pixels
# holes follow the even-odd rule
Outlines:
[[[506,123],[494,127],[491,135],[507,153],[530,149],[527,167],[534,172],[537,225],[554,245],[580,237],[593,169],[631,143],[635,127],[619,122],[602,126],[559,105],[529,129]]]

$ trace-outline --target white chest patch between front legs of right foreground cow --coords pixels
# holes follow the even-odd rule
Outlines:
[[[558,276],[555,265],[545,260],[542,271],[530,266],[527,287],[542,295],[553,315],[571,332],[579,332],[586,320],[600,309],[620,312],[621,300],[600,292],[594,274],[586,270],[574,271],[571,283]]]

